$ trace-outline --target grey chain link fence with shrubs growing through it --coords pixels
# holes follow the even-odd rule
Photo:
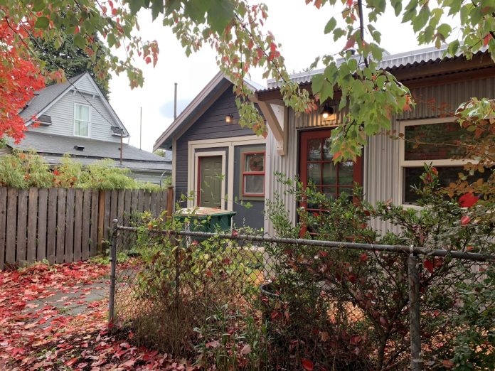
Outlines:
[[[438,368],[465,330],[452,320],[465,307],[459,289],[484,282],[495,261],[421,247],[122,226],[111,254],[113,328],[217,370]]]

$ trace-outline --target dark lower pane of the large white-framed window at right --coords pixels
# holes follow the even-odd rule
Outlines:
[[[462,173],[464,168],[462,166],[435,166],[438,171],[438,178],[440,181],[440,185],[443,187],[447,187],[449,183],[455,182],[459,179],[457,174]],[[403,192],[404,192],[404,201],[403,203],[410,204],[417,202],[417,194],[411,189],[412,185],[416,185],[416,187],[421,187],[422,181],[420,176],[422,175],[424,168],[404,168],[403,170]],[[477,181],[479,178],[484,178],[486,181],[490,176],[490,171],[485,171],[484,173],[474,173],[473,176],[469,176],[467,181],[472,183]]]

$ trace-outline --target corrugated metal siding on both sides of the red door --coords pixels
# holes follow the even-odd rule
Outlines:
[[[398,130],[401,120],[429,119],[440,117],[445,110],[454,112],[462,102],[466,102],[471,97],[495,98],[495,78],[481,80],[468,80],[464,82],[454,82],[444,85],[420,87],[412,90],[413,97],[417,101],[416,107],[411,112],[405,112],[392,119],[392,129]],[[428,103],[427,101],[435,101]],[[438,109],[443,105],[442,110]],[[338,114],[338,118],[341,117]],[[324,125],[325,124],[325,125]],[[275,193],[282,195],[282,200],[286,203],[289,216],[292,222],[296,221],[296,205],[294,200],[283,195],[284,186],[275,182],[274,171],[284,173],[286,176],[294,177],[299,171],[299,150],[297,129],[318,129],[327,127],[321,122],[319,114],[302,114],[296,117],[292,109],[289,109],[289,131],[287,143],[287,155],[277,155],[276,141],[272,134],[267,138],[267,198],[272,199]],[[366,199],[370,203],[380,200],[392,200],[393,203],[400,203],[399,190],[399,143],[397,140],[388,138],[384,134],[378,134],[368,139],[368,146],[364,149],[364,174],[363,188]],[[398,232],[397,227],[378,220],[371,222],[371,227],[382,233],[390,230]],[[272,234],[273,228],[270,222],[265,220],[265,230]]]

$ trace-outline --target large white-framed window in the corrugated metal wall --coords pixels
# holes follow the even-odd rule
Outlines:
[[[459,141],[467,141],[472,137],[465,129],[454,122],[452,117],[422,119],[400,122],[399,174],[400,202],[404,205],[415,205],[417,194],[411,188],[420,186],[420,176],[424,165],[435,166],[441,185],[447,186],[459,179],[463,166],[469,160]],[[473,180],[480,178],[476,174]]]

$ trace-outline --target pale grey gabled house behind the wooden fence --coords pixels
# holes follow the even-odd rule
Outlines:
[[[171,174],[169,156],[129,144],[122,144],[121,149],[121,135],[127,138],[129,132],[87,72],[36,92],[20,116],[28,127],[26,137],[19,144],[9,141],[9,146],[33,149],[50,165],[70,154],[82,165],[111,158],[115,166],[129,168],[133,178],[144,182],[160,183]],[[33,127],[34,120],[37,127]]]

